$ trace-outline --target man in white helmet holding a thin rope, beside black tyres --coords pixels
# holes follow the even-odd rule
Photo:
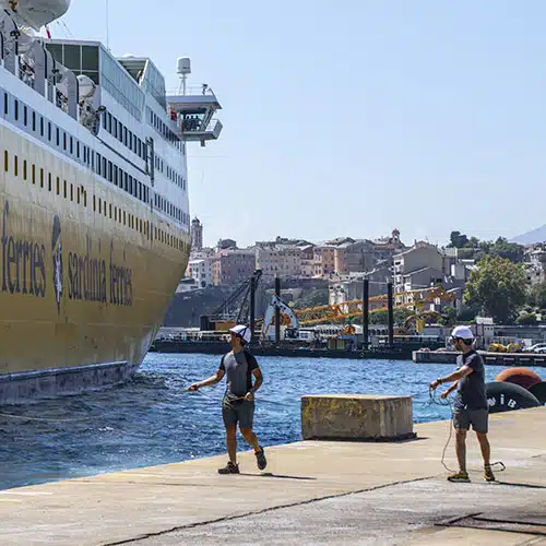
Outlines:
[[[472,348],[474,334],[467,327],[456,327],[451,337],[456,351],[462,355],[456,358],[458,370],[453,373],[438,378],[430,383],[430,389],[436,389],[442,383],[454,383],[442,393],[446,399],[456,389],[453,426],[455,428],[456,459],[459,461],[459,472],[449,476],[450,482],[468,482],[466,472],[466,432],[472,425],[476,432],[482,456],[484,458],[484,479],[495,482],[495,475],[490,466],[490,447],[487,439],[489,406],[485,390],[484,360]]]

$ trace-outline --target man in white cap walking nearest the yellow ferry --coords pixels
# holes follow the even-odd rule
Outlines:
[[[254,448],[258,468],[261,471],[268,465],[263,448],[258,443],[258,437],[252,431],[254,417],[254,393],[260,389],[263,377],[251,355],[244,347],[250,341],[250,329],[237,325],[229,330],[229,344],[233,351],[222,357],[216,373],[204,381],[193,383],[188,390],[197,391],[201,387],[216,384],[227,376],[226,392],[222,402],[222,416],[226,427],[226,442],[229,462],[219,474],[239,474],[237,464],[237,424],[242,437]],[[252,385],[252,376],[256,379]]]

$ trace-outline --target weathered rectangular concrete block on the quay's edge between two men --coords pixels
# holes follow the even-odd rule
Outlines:
[[[415,438],[412,396],[301,396],[304,440],[393,441]]]

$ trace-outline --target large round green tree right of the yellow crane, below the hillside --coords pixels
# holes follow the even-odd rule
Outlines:
[[[497,323],[511,322],[525,304],[526,276],[523,266],[506,258],[484,258],[471,273],[465,304],[475,304]]]

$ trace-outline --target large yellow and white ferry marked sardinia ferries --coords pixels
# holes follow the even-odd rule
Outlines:
[[[190,250],[186,144],[206,86],[147,58],[36,35],[70,0],[0,0],[0,403],[131,376]]]

